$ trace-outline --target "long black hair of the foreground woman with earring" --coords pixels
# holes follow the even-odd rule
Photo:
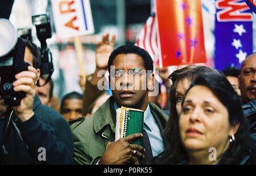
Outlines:
[[[255,152],[255,146],[250,138],[247,119],[243,117],[242,102],[237,92],[234,91],[232,85],[224,75],[217,73],[206,73],[199,75],[192,82],[189,90],[195,85],[204,85],[208,87],[213,94],[226,107],[229,114],[230,125],[240,123],[236,132],[235,140],[230,143],[229,148],[222,155],[219,164],[240,164],[245,156],[249,156],[251,152]],[[171,141],[168,147],[158,157],[154,158],[156,164],[179,164],[184,160],[188,160],[188,154],[185,151],[180,139],[179,121],[175,122],[178,126],[176,131],[173,131]]]

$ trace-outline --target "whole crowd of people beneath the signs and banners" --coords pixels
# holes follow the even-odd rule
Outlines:
[[[159,74],[168,92],[163,110],[160,91],[149,96],[160,86],[150,55],[135,45],[114,49],[115,36],[109,38],[97,45],[96,71],[81,76],[84,95],[71,92],[60,102],[52,80],[36,86],[45,81],[40,53],[23,40],[30,66],[13,87],[26,96],[15,107],[0,97],[0,164],[256,164],[256,53],[241,70],[188,65],[165,72],[168,79]],[[121,106],[144,111],[143,133],[114,141]],[[130,143],[137,139],[142,146]]]

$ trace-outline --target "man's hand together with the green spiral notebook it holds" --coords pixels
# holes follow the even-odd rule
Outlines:
[[[99,164],[139,164],[144,158],[142,145],[144,111],[121,107],[117,109],[115,142],[106,145]]]

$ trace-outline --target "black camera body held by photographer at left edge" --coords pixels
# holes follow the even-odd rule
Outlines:
[[[22,38],[18,38],[15,48],[9,54],[0,57],[0,95],[6,105],[18,106],[22,98],[26,96],[24,92],[16,92],[13,89],[15,74],[26,71],[29,66],[24,62],[24,53],[26,42]]]

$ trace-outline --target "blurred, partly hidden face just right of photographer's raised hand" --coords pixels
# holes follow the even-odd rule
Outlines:
[[[44,80],[42,78],[39,78],[40,85],[44,84]],[[43,105],[49,105],[49,102],[51,101],[51,98],[49,96],[51,91],[51,84],[48,82],[46,85],[43,85],[41,87],[36,87],[36,92],[38,93],[38,96],[40,100],[42,101]]]

